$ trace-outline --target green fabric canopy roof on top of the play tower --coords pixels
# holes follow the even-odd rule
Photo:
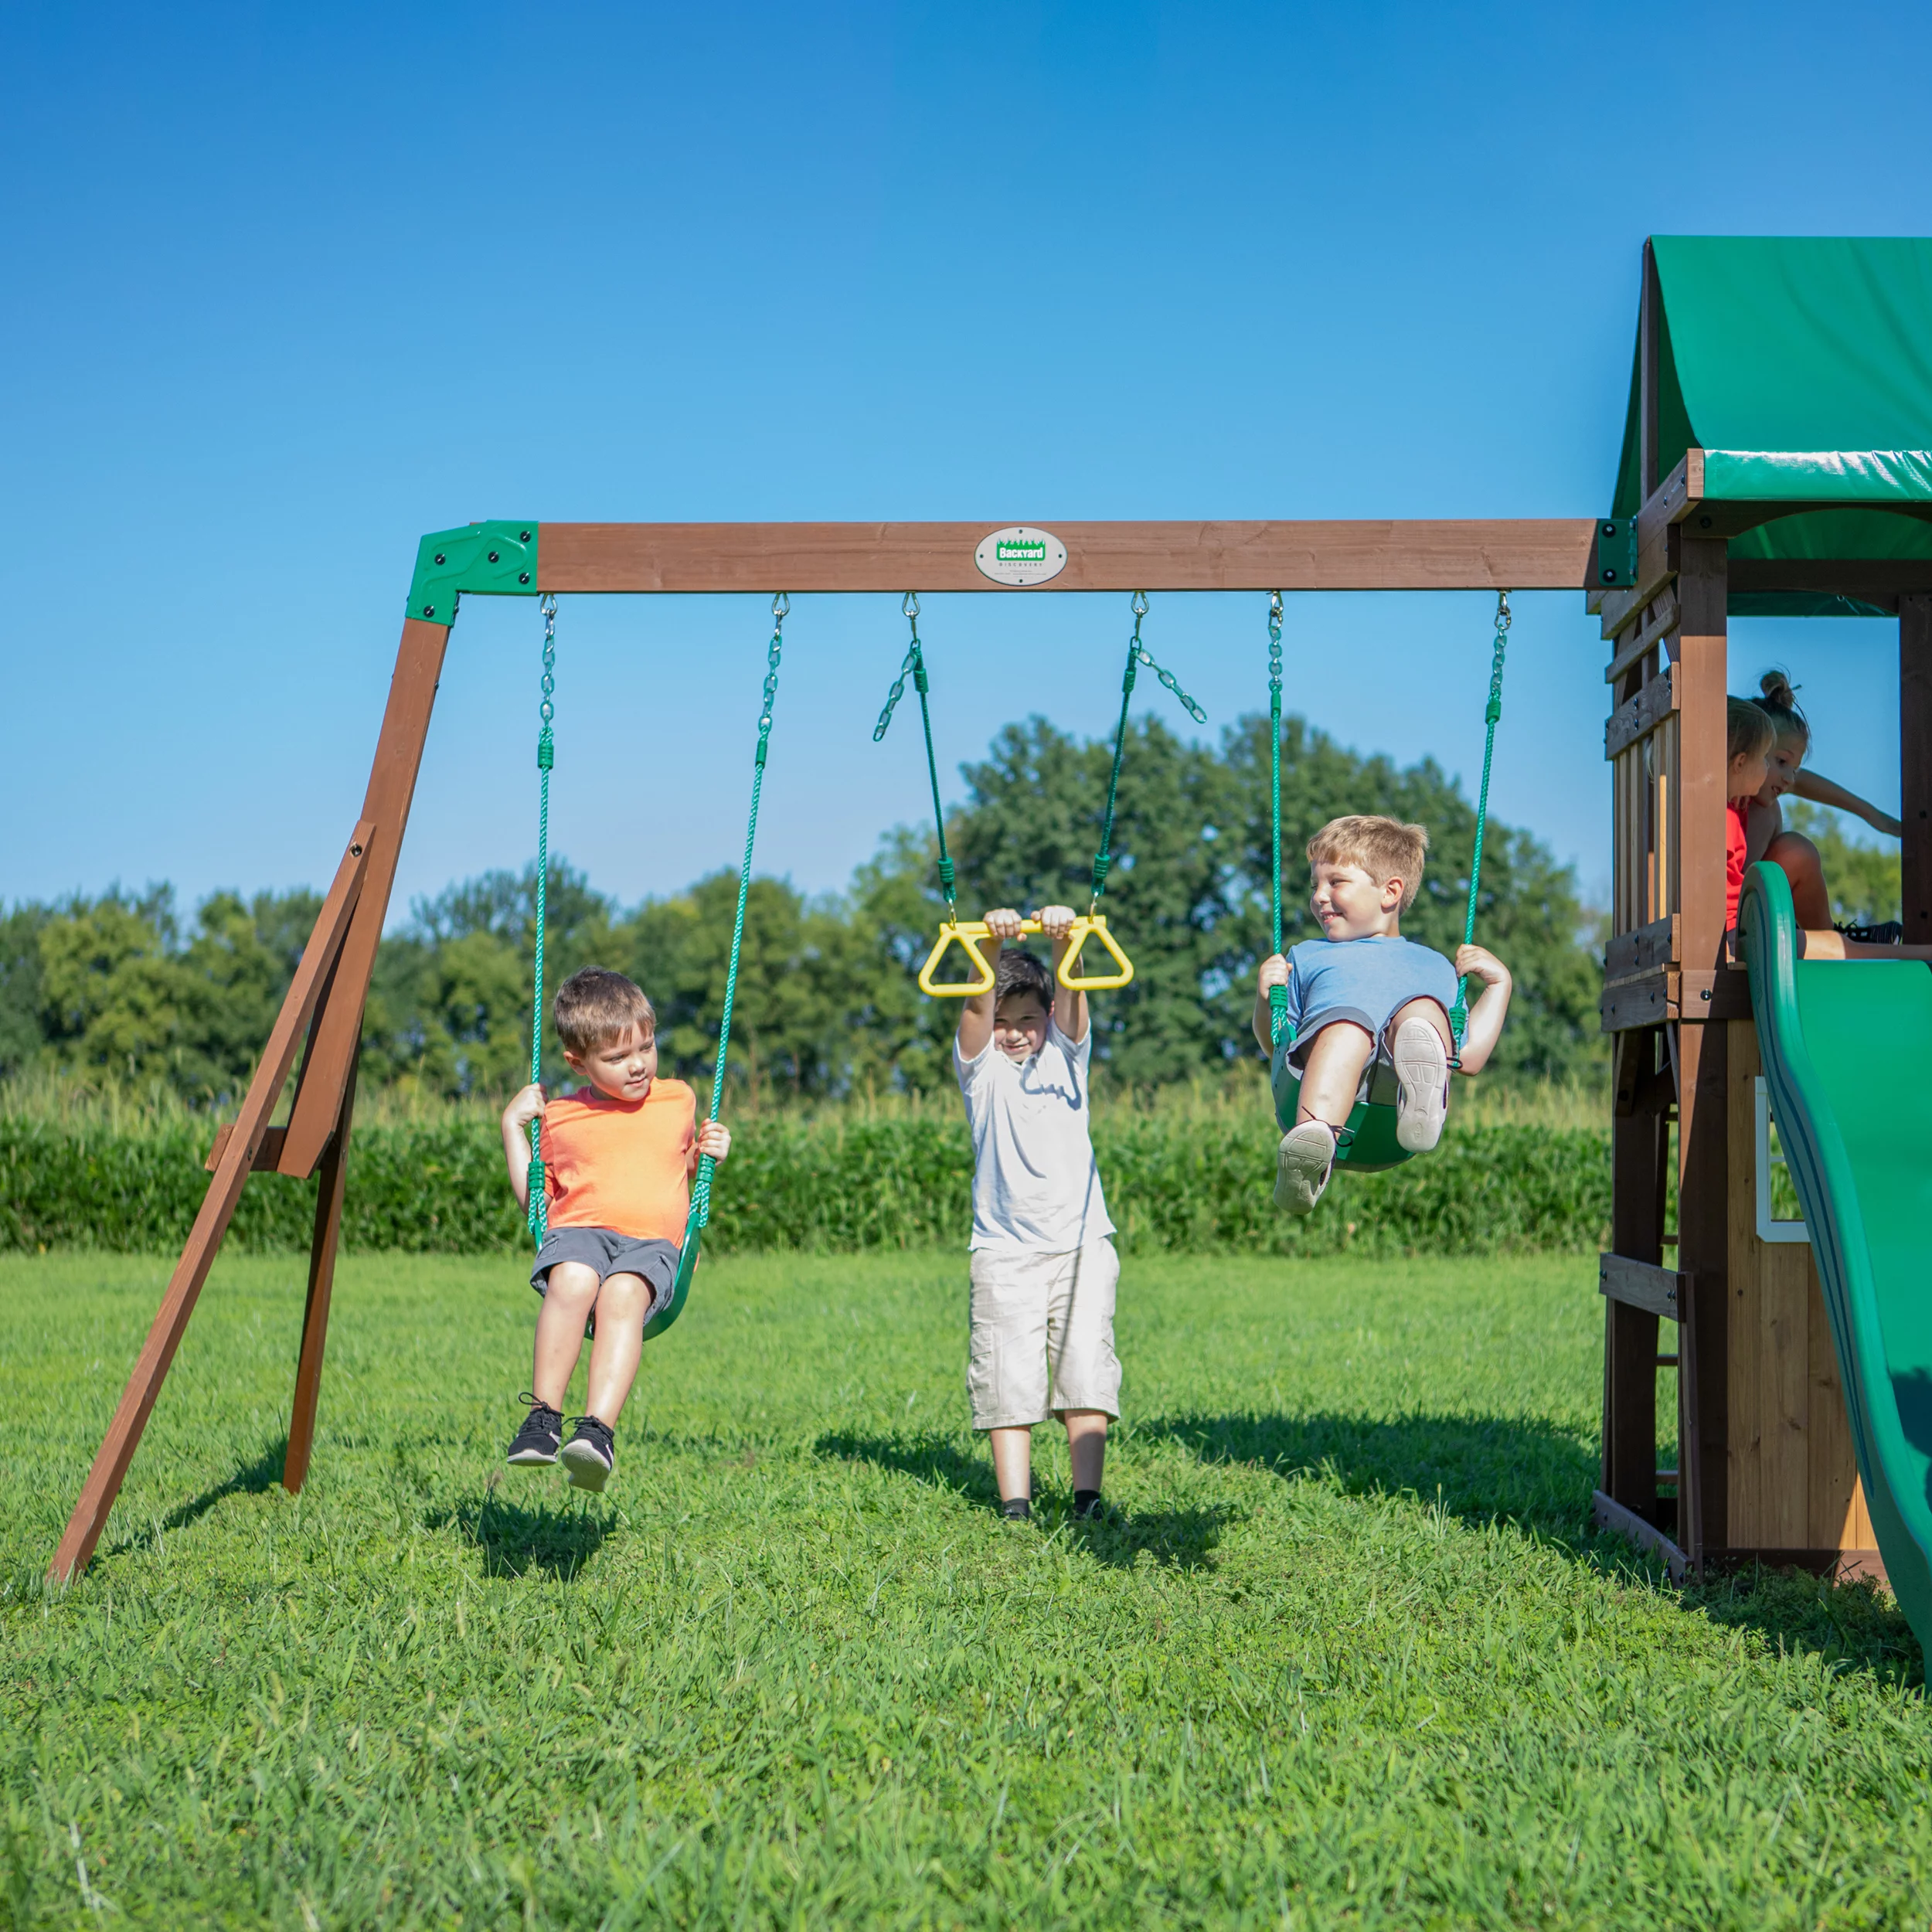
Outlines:
[[[1733,558],[1932,558],[1932,240],[1650,245],[1658,475],[1694,444],[1706,502],[1812,506],[1733,537]],[[1642,495],[1638,379],[1633,367],[1613,516],[1634,516]],[[1777,593],[1731,607],[1849,609]]]

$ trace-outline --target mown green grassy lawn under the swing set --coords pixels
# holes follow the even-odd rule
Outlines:
[[[236,1262],[48,1600],[162,1277],[0,1262],[0,1924],[1932,1907],[1895,1611],[1592,1542],[1588,1260],[1128,1262],[1105,1526],[1065,1445],[993,1517],[958,1256],[707,1264],[593,1505],[500,1472],[510,1260],[344,1264],[284,1495],[299,1264]]]

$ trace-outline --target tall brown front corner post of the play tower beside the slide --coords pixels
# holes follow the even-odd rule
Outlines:
[[[1681,539],[1677,560],[1679,958],[1725,956],[1723,792],[1725,593],[1721,539]],[[1725,1548],[1727,1515],[1727,1092],[1721,1024],[1687,1010],[1677,1028],[1677,1267],[1690,1277],[1679,1320],[1679,1542],[1702,1565]]]

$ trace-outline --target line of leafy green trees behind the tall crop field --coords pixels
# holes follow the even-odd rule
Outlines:
[[[947,817],[962,916],[1047,900],[1086,908],[1111,750],[1034,717],[962,767],[964,798]],[[1159,719],[1134,723],[1105,912],[1136,980],[1095,1001],[1095,1049],[1117,1084],[1200,1078],[1254,1055],[1254,966],[1269,945],[1267,786],[1265,717],[1240,719],[1211,746],[1182,742]],[[1455,951],[1476,811],[1432,759],[1362,757],[1291,717],[1281,808],[1287,943],[1318,933],[1302,862],[1310,835],[1343,811],[1385,811],[1430,831],[1405,931]],[[732,1016],[742,1101],[945,1086],[956,1009],[914,983],[943,912],[933,862],[931,827],[902,825],[842,893],[753,879]],[[558,860],[547,983],[593,962],[632,974],[657,1005],[667,1066],[701,1078],[717,1051],[736,889],[734,871],[717,871],[622,908]],[[230,1101],[319,906],[311,891],[224,891],[185,918],[168,887],[15,904],[0,916],[0,1078],[39,1068],[160,1084],[191,1105]],[[533,914],[535,867],[417,900],[377,954],[363,1082],[452,1099],[514,1090],[529,1068]],[[1503,1078],[1596,1065],[1600,978],[1586,920],[1571,869],[1492,819],[1478,939],[1517,976]]]

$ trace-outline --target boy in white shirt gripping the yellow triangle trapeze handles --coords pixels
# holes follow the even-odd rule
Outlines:
[[[1084,993],[1055,974],[1074,912],[1047,906],[1049,972],[1030,952],[1003,952],[1020,914],[985,916],[993,989],[960,1012],[952,1066],[972,1128],[972,1424],[993,1445],[999,1509],[1032,1515],[1034,1424],[1066,1424],[1074,1515],[1099,1513],[1107,1424],[1121,1412],[1113,1296],[1121,1262],[1088,1136],[1094,1039]]]

